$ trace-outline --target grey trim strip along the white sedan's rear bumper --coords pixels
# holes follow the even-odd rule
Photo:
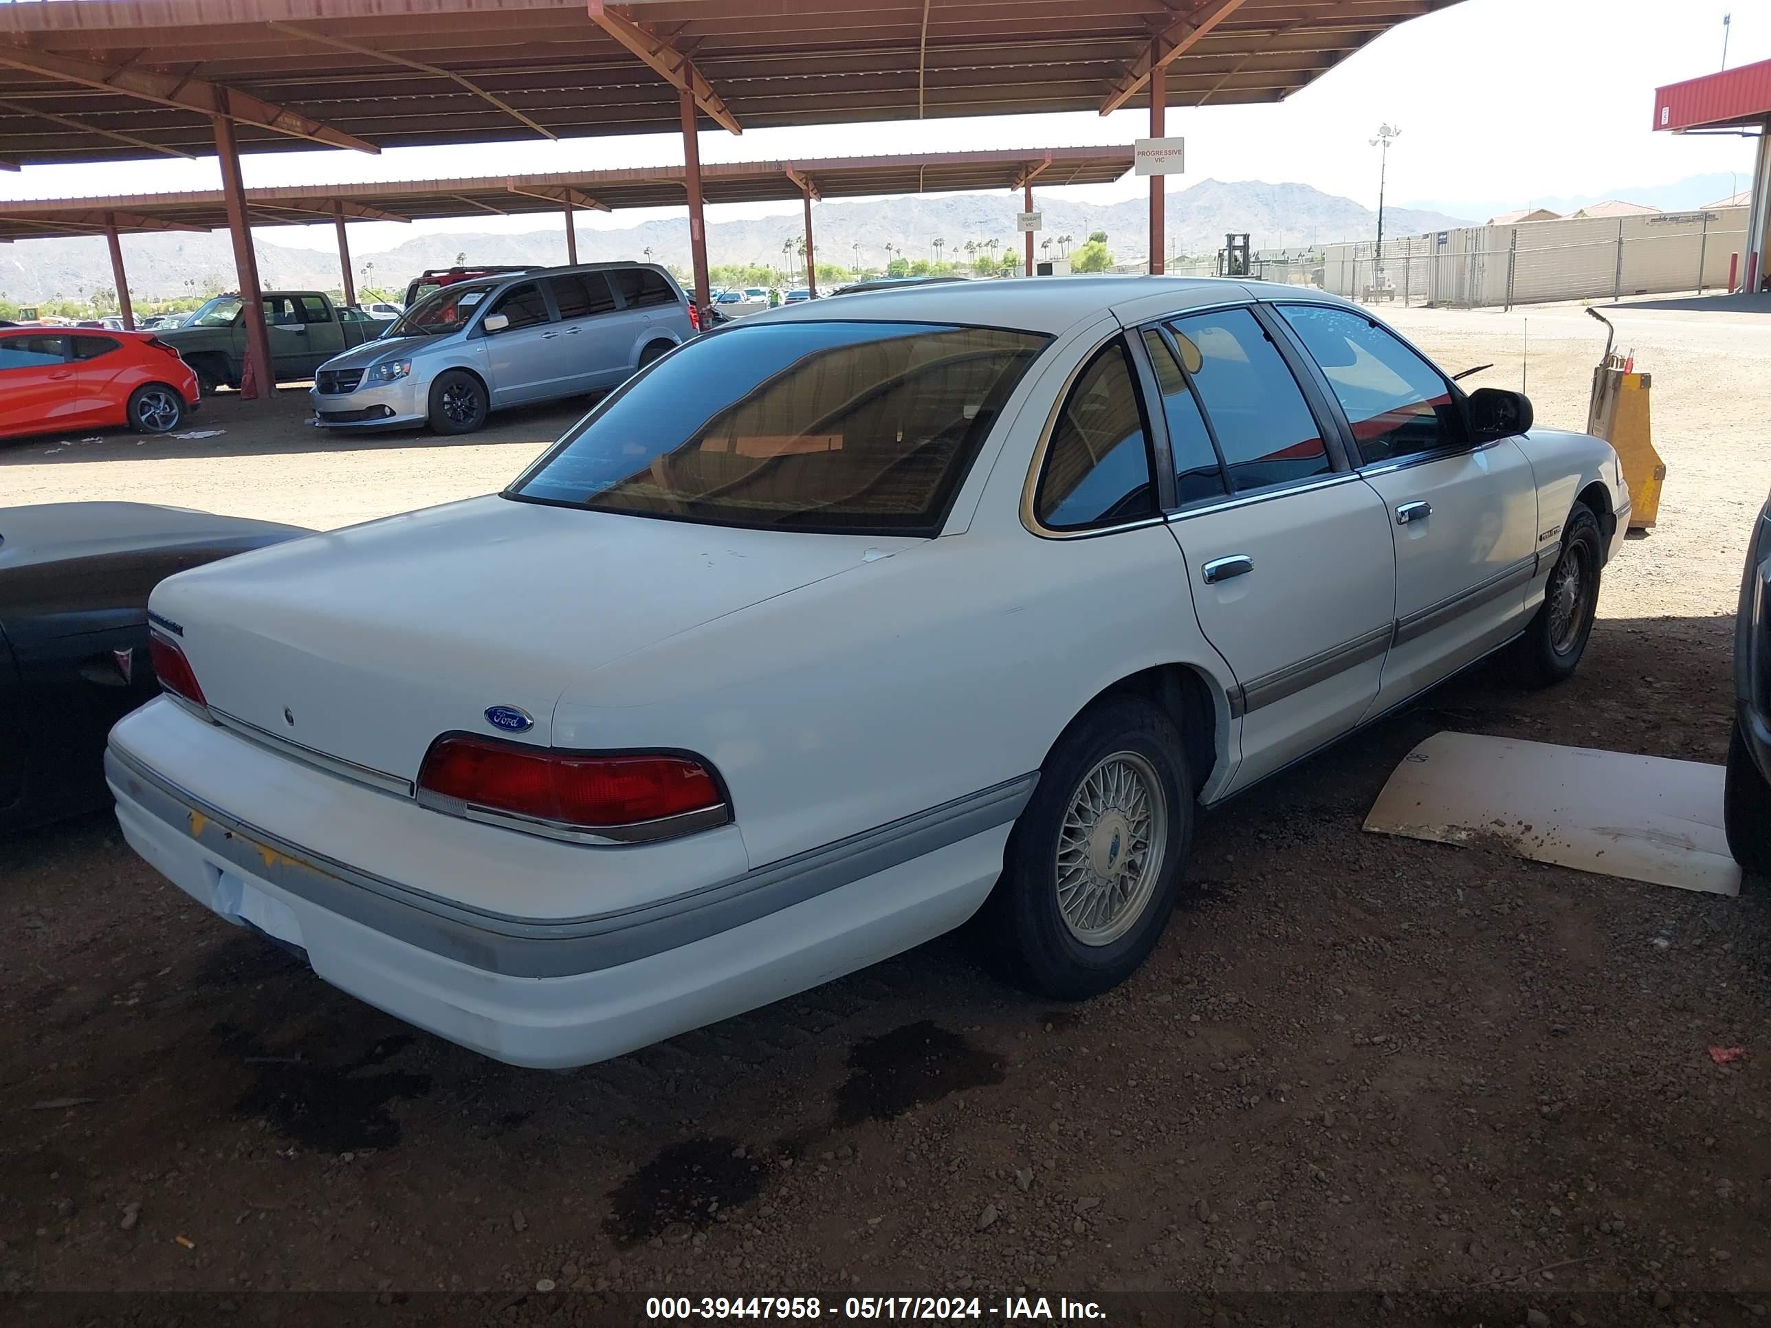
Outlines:
[[[469,908],[313,853],[228,816],[117,747],[104,753],[104,776],[147,815],[248,876],[395,940],[512,977],[613,969],[852,885],[1013,822],[1040,777],[1032,772],[1008,779],[669,899],[613,914],[535,919]],[[271,850],[269,857],[262,850]]]

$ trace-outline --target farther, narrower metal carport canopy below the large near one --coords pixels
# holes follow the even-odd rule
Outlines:
[[[820,198],[898,193],[1018,189],[1038,172],[1040,188],[1107,184],[1132,170],[1130,147],[1004,149],[877,158],[804,158],[701,166],[708,204],[797,200],[802,181]],[[246,189],[253,227],[347,221],[416,221],[492,214],[558,212],[567,191],[577,207],[682,207],[682,166],[639,166],[551,175],[498,175],[459,181],[381,184],[290,184]],[[110,198],[0,200],[0,239],[104,234],[106,216],[120,234],[220,230],[227,227],[221,189],[142,193]]]

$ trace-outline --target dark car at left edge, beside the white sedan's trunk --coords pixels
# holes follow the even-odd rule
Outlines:
[[[0,508],[0,834],[110,802],[104,735],[159,696],[161,577],[305,533],[143,503]]]

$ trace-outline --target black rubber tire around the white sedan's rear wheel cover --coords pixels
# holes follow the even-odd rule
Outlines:
[[[1082,838],[1071,827],[1066,839],[1066,822],[1071,804],[1082,795],[1084,781],[1103,767],[1112,770],[1128,756],[1133,758],[1132,767],[1144,767],[1133,777],[1144,783],[1153,777],[1153,788],[1160,788],[1162,825],[1156,825],[1153,809],[1146,825],[1149,843],[1160,846],[1162,857],[1146,859],[1148,885],[1141,876],[1142,889],[1133,887],[1133,901],[1123,905],[1128,912],[1102,919],[1103,924],[1093,928],[1094,940],[1087,942],[1066,921],[1059,901],[1061,853],[1071,853],[1075,866],[1087,876],[1098,871],[1102,861],[1130,862],[1139,838],[1133,822],[1114,807],[1103,809],[1093,822],[1096,829]],[[1118,986],[1137,970],[1155,949],[1174,908],[1194,838],[1192,788],[1181,735],[1162,710],[1141,698],[1116,696],[1096,703],[1057,740],[1032,799],[1009,836],[1006,871],[985,923],[995,933],[992,938],[1006,949],[1024,986],[1059,1000],[1082,1000]],[[1112,820],[1116,815],[1118,822]],[[1123,846],[1121,829],[1126,836]],[[1110,841],[1107,834],[1112,836]],[[1098,875],[1087,878],[1100,880]],[[1084,887],[1073,885],[1075,889]],[[1142,894],[1141,905],[1135,903],[1137,894]],[[1071,894],[1071,899],[1079,898],[1102,896],[1091,896],[1084,889],[1080,896]],[[1112,935],[1114,926],[1123,926],[1123,931]]]

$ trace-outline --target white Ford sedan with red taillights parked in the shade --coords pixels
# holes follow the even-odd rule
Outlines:
[[[1360,308],[1162,278],[760,313],[501,494],[152,597],[129,843],[524,1066],[988,908],[1029,986],[1155,946],[1195,809],[1511,646],[1571,673],[1612,448]]]

